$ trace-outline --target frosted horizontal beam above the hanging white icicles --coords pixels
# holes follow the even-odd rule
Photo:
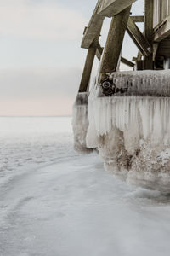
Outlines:
[[[170,96],[169,70],[109,73],[117,88],[127,88],[127,96]]]

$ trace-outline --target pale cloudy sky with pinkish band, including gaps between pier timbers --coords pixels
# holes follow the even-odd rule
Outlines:
[[[71,115],[87,54],[80,47],[82,32],[96,3],[0,0],[0,115]],[[134,3],[132,12],[143,15],[143,1]],[[106,18],[102,46],[110,23]],[[136,54],[126,35],[122,55],[132,60]],[[98,65],[95,59],[92,81]]]

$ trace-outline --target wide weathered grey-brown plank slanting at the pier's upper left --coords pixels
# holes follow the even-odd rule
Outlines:
[[[101,16],[97,14],[99,3],[102,0],[98,0],[98,3],[96,4],[96,7],[94,9],[94,13],[88,23],[88,27],[86,27],[84,31],[84,36],[82,38],[82,44],[81,47],[88,49],[92,42],[94,41],[94,38],[99,37],[101,27],[103,25],[103,21],[105,19],[105,16]]]

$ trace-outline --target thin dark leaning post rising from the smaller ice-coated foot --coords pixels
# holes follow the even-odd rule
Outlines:
[[[98,46],[98,38],[94,39],[94,42],[88,49],[88,55],[86,57],[86,62],[84,65],[83,73],[82,73],[82,80],[79,87],[79,92],[86,92],[88,91],[88,84],[90,81],[90,76],[92,73],[92,67],[94,64],[94,57],[96,54],[96,49]]]

